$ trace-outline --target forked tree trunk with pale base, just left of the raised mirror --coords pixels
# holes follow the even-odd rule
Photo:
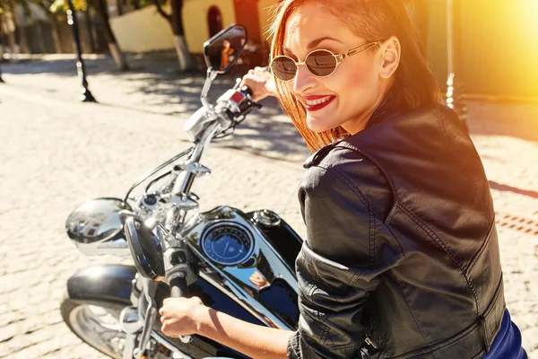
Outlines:
[[[166,13],[159,0],[152,0],[153,4],[157,6],[157,11],[161,13],[170,24],[172,32],[174,33],[174,47],[176,48],[176,54],[178,55],[179,68],[185,72],[193,67],[193,61],[188,51],[187,40],[185,39],[185,31],[183,29],[183,0],[169,0],[172,13]]]

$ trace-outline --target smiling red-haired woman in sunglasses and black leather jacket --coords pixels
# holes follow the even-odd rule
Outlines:
[[[299,328],[168,299],[163,332],[261,358],[525,358],[505,308],[488,181],[396,0],[284,0],[272,84],[310,149]]]

